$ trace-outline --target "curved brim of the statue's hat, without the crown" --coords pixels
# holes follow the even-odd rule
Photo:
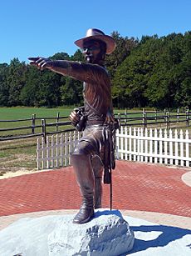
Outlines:
[[[96,35],[96,36],[91,36],[91,37],[86,37],[86,38],[81,38],[79,40],[75,41],[75,44],[79,48],[83,48],[83,45],[85,42],[90,41],[92,39],[99,39],[106,43],[106,53],[110,54],[115,50],[116,44],[114,38],[111,38],[110,36],[107,35]]]

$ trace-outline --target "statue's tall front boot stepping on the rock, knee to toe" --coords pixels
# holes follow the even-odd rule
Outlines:
[[[85,154],[72,154],[71,163],[81,190],[82,203],[73,223],[86,223],[94,215],[94,174],[91,158]]]

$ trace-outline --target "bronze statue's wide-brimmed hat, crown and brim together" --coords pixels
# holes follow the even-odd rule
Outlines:
[[[89,28],[86,32],[86,37],[76,40],[75,44],[79,48],[83,48],[84,43],[92,39],[99,39],[105,42],[107,47],[106,48],[107,54],[110,54],[115,50],[116,44],[115,44],[114,38],[111,38],[110,36],[105,35],[105,33],[100,31],[100,29],[96,29],[96,28]]]

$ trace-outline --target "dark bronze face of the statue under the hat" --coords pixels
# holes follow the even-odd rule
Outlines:
[[[101,60],[100,43],[95,40],[90,40],[84,43],[82,49],[87,63],[99,63]]]

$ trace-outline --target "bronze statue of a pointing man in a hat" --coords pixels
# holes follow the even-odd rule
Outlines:
[[[115,50],[115,41],[96,28],[90,28],[86,37],[77,40],[85,55],[86,63],[47,58],[29,58],[40,70],[45,68],[84,82],[83,95],[86,124],[83,136],[73,153],[71,163],[81,189],[82,203],[73,223],[86,223],[94,215],[94,208],[101,207],[102,174],[105,161],[105,123],[113,121],[110,77],[104,67],[105,54]],[[80,115],[73,111],[71,123],[75,126]]]

